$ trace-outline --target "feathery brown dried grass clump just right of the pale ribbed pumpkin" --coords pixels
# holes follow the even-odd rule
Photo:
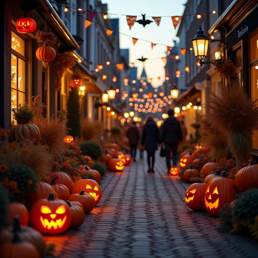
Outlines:
[[[66,150],[63,138],[68,130],[66,120],[60,117],[35,117],[33,123],[38,127],[41,134],[41,144],[47,147],[47,152],[53,160],[60,157]]]

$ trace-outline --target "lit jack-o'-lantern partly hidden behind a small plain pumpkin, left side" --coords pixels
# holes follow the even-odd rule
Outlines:
[[[99,184],[95,180],[84,177],[82,180],[78,180],[74,183],[71,193],[80,193],[83,189],[85,190],[84,193],[89,193],[94,198],[95,205],[97,205],[102,196]]]

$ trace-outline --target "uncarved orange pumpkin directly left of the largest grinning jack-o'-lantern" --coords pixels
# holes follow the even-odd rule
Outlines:
[[[22,203],[18,203],[15,199],[14,196],[10,196],[11,202],[9,204],[9,214],[8,216],[12,221],[15,215],[19,215],[20,217],[20,224],[28,226],[29,224],[29,212],[26,208],[26,206]]]

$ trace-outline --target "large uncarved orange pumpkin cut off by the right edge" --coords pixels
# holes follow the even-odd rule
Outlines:
[[[235,184],[240,192],[255,187],[258,188],[258,164],[250,161],[249,165],[241,168],[235,176]]]

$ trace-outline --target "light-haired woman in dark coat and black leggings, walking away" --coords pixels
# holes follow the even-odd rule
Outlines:
[[[148,173],[154,173],[155,162],[155,150],[157,150],[157,144],[160,143],[159,129],[156,123],[153,121],[152,116],[146,118],[146,123],[142,129],[141,144],[144,145],[144,150],[147,150],[147,162]],[[150,163],[151,158],[151,163]],[[151,166],[151,165],[152,166]]]

